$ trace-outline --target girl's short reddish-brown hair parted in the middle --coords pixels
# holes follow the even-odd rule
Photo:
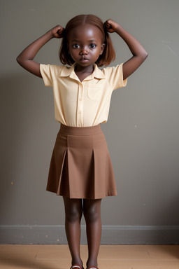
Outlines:
[[[103,34],[103,43],[105,43],[105,48],[102,55],[99,55],[99,58],[95,63],[98,67],[102,67],[103,65],[107,66],[108,64],[110,64],[110,62],[113,62],[113,60],[115,60],[115,50],[113,47],[113,43],[110,39],[110,35],[104,27],[103,21],[96,15],[91,14],[77,15],[76,17],[69,20],[69,22],[66,24],[62,43],[59,48],[59,60],[62,62],[62,64],[74,64],[71,55],[69,55],[68,35],[69,32],[71,32],[71,30],[73,30],[75,27],[84,24],[94,25],[95,27],[98,27]]]

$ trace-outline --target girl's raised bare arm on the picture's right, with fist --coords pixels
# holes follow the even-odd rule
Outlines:
[[[123,64],[123,79],[128,78],[140,65],[144,62],[146,57],[148,57],[148,53],[143,48],[140,42],[138,42],[134,36],[129,34],[121,25],[118,25],[117,22],[113,20],[107,20],[104,23],[106,30],[109,33],[116,32],[119,36],[127,43],[129,50],[133,57],[131,57],[127,62]]]

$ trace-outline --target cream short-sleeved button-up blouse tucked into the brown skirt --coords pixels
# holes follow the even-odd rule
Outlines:
[[[122,64],[99,69],[80,82],[71,67],[41,64],[45,86],[53,88],[55,119],[64,125],[84,127],[106,123],[113,90],[127,85]]]

